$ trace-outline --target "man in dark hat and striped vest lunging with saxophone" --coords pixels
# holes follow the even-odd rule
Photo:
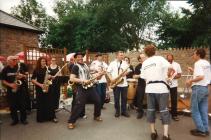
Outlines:
[[[76,84],[76,104],[73,107],[72,114],[68,120],[68,128],[75,128],[75,123],[80,117],[81,112],[87,101],[94,103],[94,120],[102,121],[101,115],[101,102],[100,97],[96,92],[95,85],[90,84],[93,81],[91,78],[88,66],[83,62],[83,54],[78,52],[74,55],[75,65],[71,70],[70,81]],[[99,74],[100,76],[101,74]],[[98,76],[97,76],[98,77]],[[90,80],[92,79],[92,80]],[[93,86],[88,86],[93,85]]]

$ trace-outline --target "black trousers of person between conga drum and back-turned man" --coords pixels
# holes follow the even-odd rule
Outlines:
[[[144,113],[143,101],[145,95],[145,86],[138,84],[136,90],[136,105],[138,107],[138,113]]]

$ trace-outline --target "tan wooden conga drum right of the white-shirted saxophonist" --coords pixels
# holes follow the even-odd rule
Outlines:
[[[136,79],[127,79],[127,82],[128,82],[127,102],[128,104],[131,104],[136,95],[138,81]]]

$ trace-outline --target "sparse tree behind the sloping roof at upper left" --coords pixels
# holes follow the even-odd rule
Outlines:
[[[42,4],[36,0],[21,0],[18,6],[12,7],[11,14],[43,30],[44,34],[39,36],[40,45],[47,46],[48,25],[55,20],[46,14]]]

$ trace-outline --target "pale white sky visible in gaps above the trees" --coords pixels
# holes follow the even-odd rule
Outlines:
[[[48,15],[54,16],[52,7],[54,6],[57,0],[37,0],[37,1],[44,6]],[[191,8],[189,4],[187,4],[186,1],[184,0],[183,1],[172,0],[168,2],[170,3],[172,11],[178,11],[178,10],[180,11],[181,7]],[[18,4],[20,4],[20,0],[0,0],[0,9],[7,13],[10,13],[11,7],[17,6]]]

